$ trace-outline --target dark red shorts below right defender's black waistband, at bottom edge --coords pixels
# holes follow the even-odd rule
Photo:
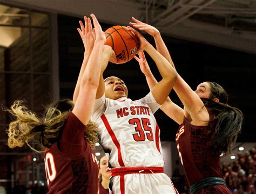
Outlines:
[[[231,190],[226,185],[216,184],[212,186],[206,186],[203,189],[195,192],[194,194],[232,194]]]

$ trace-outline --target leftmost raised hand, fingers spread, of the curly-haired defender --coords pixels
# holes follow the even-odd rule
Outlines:
[[[78,33],[83,41],[85,51],[91,51],[95,41],[95,33],[92,30],[91,19],[84,16],[84,24],[79,21],[80,28],[77,28]]]

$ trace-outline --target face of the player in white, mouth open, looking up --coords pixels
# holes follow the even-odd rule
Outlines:
[[[128,96],[128,90],[123,80],[118,77],[108,77],[105,80],[105,96],[110,99],[118,99]]]

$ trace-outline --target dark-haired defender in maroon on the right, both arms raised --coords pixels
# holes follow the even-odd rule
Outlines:
[[[152,35],[157,51],[173,68],[171,55],[159,31],[132,18],[131,26]],[[139,53],[140,69],[151,90],[158,84],[143,53]],[[167,116],[180,125],[176,134],[180,162],[183,165],[190,193],[232,193],[226,186],[220,168],[220,154],[229,154],[241,131],[243,114],[227,104],[228,95],[215,82],[200,83],[195,91],[178,75],[173,86],[184,109],[168,97],[160,107]]]

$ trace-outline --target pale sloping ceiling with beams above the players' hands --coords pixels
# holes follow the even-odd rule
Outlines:
[[[162,34],[256,54],[256,0],[0,0],[0,3],[82,17],[95,13],[113,25],[131,17]]]

